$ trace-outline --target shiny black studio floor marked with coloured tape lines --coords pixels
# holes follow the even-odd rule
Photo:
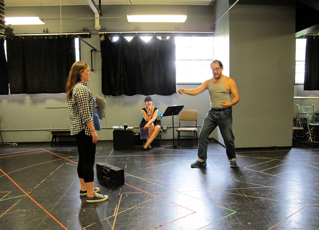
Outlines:
[[[101,203],[79,196],[75,143],[0,145],[0,229],[318,229],[319,145],[237,151],[209,141],[207,166],[182,149],[114,151],[96,162],[124,169],[125,184],[98,181]],[[157,146],[156,146],[157,145]]]

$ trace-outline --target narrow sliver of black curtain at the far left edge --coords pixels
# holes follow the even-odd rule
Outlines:
[[[5,59],[4,39],[0,39],[0,95],[9,94],[7,60]]]

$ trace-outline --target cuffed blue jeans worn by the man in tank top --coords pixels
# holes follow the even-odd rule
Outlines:
[[[228,161],[237,160],[235,153],[235,137],[233,134],[232,125],[232,108],[223,111],[215,111],[213,109],[208,111],[204,118],[203,126],[198,137],[197,161],[206,162],[208,137],[217,126],[219,127],[221,136],[223,137],[226,146]]]

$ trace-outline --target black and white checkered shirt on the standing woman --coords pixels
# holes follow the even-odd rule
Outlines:
[[[85,129],[85,135],[92,136],[86,123],[93,122],[93,96],[86,87],[86,83],[77,83],[72,91],[72,98],[68,101],[71,135]]]

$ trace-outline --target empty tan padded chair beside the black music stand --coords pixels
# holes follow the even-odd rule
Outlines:
[[[182,127],[181,121],[195,121],[195,127]],[[186,124],[186,122],[183,122]],[[180,139],[181,137],[190,137],[190,136],[182,136],[181,132],[193,132],[194,133],[194,146],[195,146],[195,139],[198,143],[198,137],[197,137],[197,111],[196,110],[187,110],[184,109],[179,114],[179,127],[176,129],[177,131],[177,145],[180,145]],[[195,136],[196,135],[196,136]]]

